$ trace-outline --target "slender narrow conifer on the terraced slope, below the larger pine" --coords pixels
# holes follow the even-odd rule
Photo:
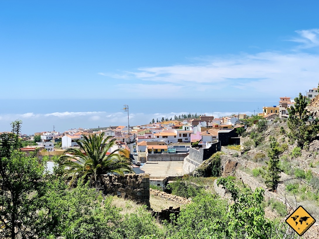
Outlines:
[[[273,190],[276,189],[278,180],[279,180],[279,174],[280,174],[280,161],[279,161],[279,143],[276,141],[274,137],[270,137],[270,151],[268,152],[268,158],[269,160],[266,162],[266,173],[264,175],[265,178],[265,184],[268,187],[271,187]]]

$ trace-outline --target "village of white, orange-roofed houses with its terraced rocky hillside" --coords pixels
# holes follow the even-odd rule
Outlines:
[[[318,89],[307,92],[311,100],[307,109],[313,116],[319,115],[317,95]],[[194,180],[192,185],[204,187],[229,202],[231,194],[217,184],[218,176],[234,177],[237,184],[251,190],[263,188],[265,216],[270,219],[284,221],[299,205],[304,206],[314,218],[319,218],[319,140],[300,148],[288,137],[288,109],[294,104],[291,98],[280,97],[278,105],[263,107],[263,112],[252,116],[237,114],[216,119],[201,115],[133,127],[37,132],[31,137],[20,135],[24,142],[33,142],[30,145],[25,143],[20,150],[26,155],[35,152],[40,159],[47,157],[53,167],[51,157],[79,148],[79,140],[85,137],[103,133],[104,138],[115,142],[107,154],[121,149],[119,153],[130,159],[134,174],[127,174],[124,179],[116,175],[99,176],[99,182],[104,182],[99,187],[104,188],[105,194],[115,193],[153,209],[156,206],[152,205],[152,200],[153,203],[160,200],[159,204],[167,205],[167,208],[160,206],[154,214],[162,218],[166,218],[164,214],[178,215],[180,207],[191,203],[191,197],[170,194],[173,192],[168,185],[177,178],[185,178],[184,175]],[[40,140],[35,142],[39,136]],[[275,189],[269,188],[263,177],[272,137],[280,148],[281,172]],[[215,166],[218,172],[214,174]],[[114,180],[122,186],[115,186]],[[130,182],[137,191],[130,191]],[[313,225],[304,238],[319,238],[319,225]]]

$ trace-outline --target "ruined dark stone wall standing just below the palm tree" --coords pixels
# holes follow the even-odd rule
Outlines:
[[[94,184],[94,182],[93,182]],[[150,175],[99,175],[96,188],[104,195],[117,195],[150,207]]]

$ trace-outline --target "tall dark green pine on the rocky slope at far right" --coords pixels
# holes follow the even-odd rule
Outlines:
[[[306,97],[299,93],[299,97],[295,98],[295,105],[288,108],[287,126],[290,129],[288,137],[291,141],[296,140],[301,148],[308,145],[319,133],[318,118],[308,121],[312,114],[306,110],[306,106]]]

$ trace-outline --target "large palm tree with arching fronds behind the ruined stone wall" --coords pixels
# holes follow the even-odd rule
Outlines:
[[[104,138],[104,132],[99,135],[89,134],[84,139],[78,140],[80,148],[70,148],[64,153],[59,169],[63,170],[63,175],[67,178],[72,177],[71,182],[78,177],[86,180],[93,176],[97,180],[97,175],[106,173],[116,173],[123,175],[124,172],[131,172],[130,159],[120,154],[123,148],[115,149],[107,154],[108,150],[115,145],[115,139],[107,142],[111,136]]]

